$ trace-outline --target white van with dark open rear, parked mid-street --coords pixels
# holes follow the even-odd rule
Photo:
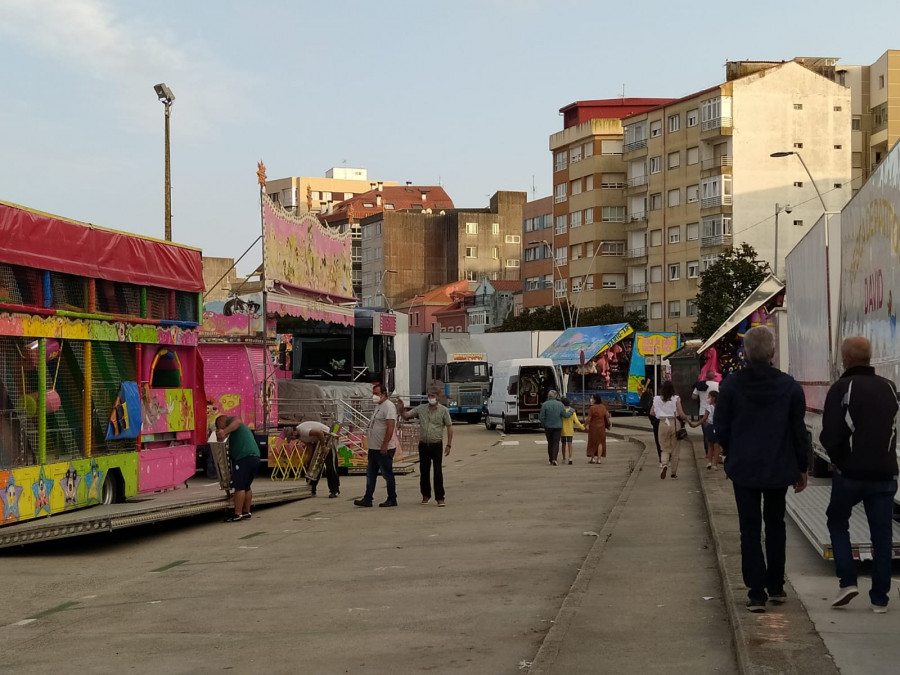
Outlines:
[[[499,424],[505,433],[522,426],[539,428],[541,404],[551,389],[559,391],[559,379],[550,359],[510,359],[495,363],[484,426],[493,431]]]

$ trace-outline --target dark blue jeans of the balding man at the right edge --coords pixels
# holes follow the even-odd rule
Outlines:
[[[856,565],[850,548],[850,513],[854,506],[862,502],[872,538],[874,559],[869,599],[873,605],[886,606],[891,590],[891,539],[896,492],[896,480],[854,480],[835,471],[831,482],[831,501],[826,514],[835,572],[841,581],[841,588],[856,586]]]

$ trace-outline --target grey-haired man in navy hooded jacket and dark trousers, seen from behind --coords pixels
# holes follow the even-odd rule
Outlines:
[[[771,330],[765,326],[748,330],[744,355],[747,366],[722,382],[714,428],[737,505],[747,609],[765,612],[766,600],[782,604],[787,599],[784,501],[789,485],[794,492],[806,487],[806,398],[794,378],[772,366],[775,334]]]

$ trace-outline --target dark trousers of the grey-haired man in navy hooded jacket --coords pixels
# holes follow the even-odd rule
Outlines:
[[[747,597],[764,603],[766,594],[784,590],[784,497],[787,488],[759,490],[734,484],[734,501],[741,528],[741,572]],[[762,501],[762,512],[760,512]],[[762,551],[762,526],[766,527],[766,554]]]

